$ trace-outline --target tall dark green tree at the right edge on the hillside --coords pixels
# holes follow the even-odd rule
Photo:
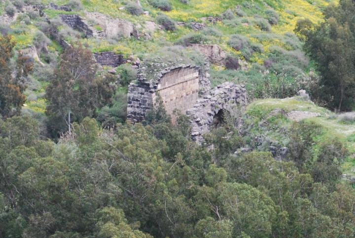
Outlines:
[[[355,106],[354,11],[353,0],[340,0],[339,5],[325,9],[324,22],[314,25],[308,19],[300,20],[295,29],[320,72],[320,88],[313,93],[338,112]]]

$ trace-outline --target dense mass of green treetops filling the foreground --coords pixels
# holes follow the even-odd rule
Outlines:
[[[334,172],[347,152],[314,151],[317,125],[295,123],[279,161],[234,155],[248,141],[231,125],[197,146],[183,118],[154,121],[85,118],[54,144],[30,117],[1,120],[0,237],[354,237],[355,191]]]

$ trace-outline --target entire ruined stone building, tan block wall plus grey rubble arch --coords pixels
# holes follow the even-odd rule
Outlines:
[[[176,123],[175,109],[190,118],[191,137],[197,143],[203,141],[203,134],[213,123],[221,122],[224,110],[245,106],[248,102],[243,85],[225,82],[210,90],[206,87],[209,75],[196,66],[168,67],[155,72],[152,79],[147,78],[141,69],[138,79],[129,85],[127,119],[134,123],[144,122],[159,95],[173,124]]]

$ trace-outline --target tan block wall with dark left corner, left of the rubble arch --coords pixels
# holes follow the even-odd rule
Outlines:
[[[172,121],[175,122],[175,109],[185,113],[198,98],[199,68],[181,66],[168,68],[160,72],[160,78],[146,81],[141,75],[137,82],[132,82],[128,88],[127,119],[142,122],[146,114],[153,108],[157,94],[164,102]]]

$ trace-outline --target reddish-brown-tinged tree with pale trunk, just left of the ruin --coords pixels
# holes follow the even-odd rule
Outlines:
[[[113,79],[96,77],[97,70],[92,52],[81,44],[68,47],[61,55],[45,95],[53,137],[65,131],[71,134],[72,122],[94,117],[97,108],[111,103],[116,89],[110,85]]]

